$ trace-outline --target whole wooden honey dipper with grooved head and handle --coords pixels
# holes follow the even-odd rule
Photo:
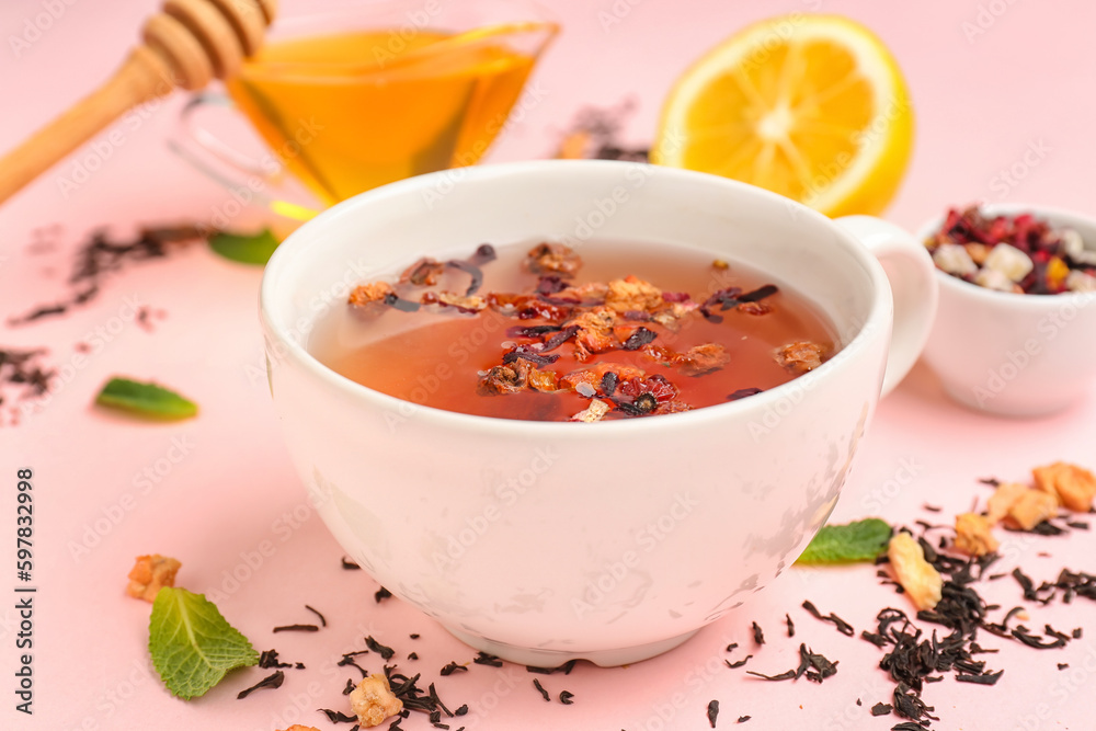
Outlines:
[[[0,203],[127,110],[236,73],[276,12],[277,0],[167,0],[114,77],[0,158]]]

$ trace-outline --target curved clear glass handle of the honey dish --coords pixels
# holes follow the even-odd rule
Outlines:
[[[277,186],[285,175],[283,162],[274,155],[269,160],[252,158],[221,141],[197,124],[195,113],[203,106],[236,108],[232,100],[225,94],[204,92],[192,96],[179,113],[175,135],[168,140],[172,152],[226,190],[249,190],[252,201],[281,216],[308,220],[319,213],[267,195],[264,190]],[[256,178],[261,185],[254,183]]]

